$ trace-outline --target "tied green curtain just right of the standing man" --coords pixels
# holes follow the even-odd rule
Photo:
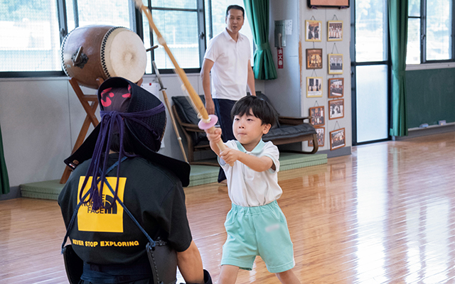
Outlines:
[[[259,80],[277,79],[277,69],[269,44],[269,0],[243,0],[255,41],[253,71]]]

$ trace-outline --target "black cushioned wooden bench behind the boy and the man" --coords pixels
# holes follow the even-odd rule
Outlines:
[[[269,99],[257,92],[257,97],[267,100]],[[203,103],[205,99],[200,96]],[[183,134],[186,137],[186,150],[188,155],[188,163],[192,165],[218,165],[218,163],[198,162],[194,160],[194,152],[210,150],[208,139],[205,132],[198,128],[199,118],[196,111],[193,109],[191,102],[186,96],[172,97],[172,111],[176,117],[176,121],[180,126]],[[304,122],[310,120],[311,116],[306,117],[291,117],[279,116],[277,126],[270,129],[269,133],[262,136],[264,142],[272,141],[275,145],[313,141],[313,149],[311,151],[292,151],[295,153],[314,154],[318,151],[318,140],[316,137],[316,129],[314,126]]]

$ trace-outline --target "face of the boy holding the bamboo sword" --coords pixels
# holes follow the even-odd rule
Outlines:
[[[232,132],[247,151],[252,151],[262,138],[262,135],[269,132],[271,125],[262,124],[262,120],[250,114],[234,116]]]

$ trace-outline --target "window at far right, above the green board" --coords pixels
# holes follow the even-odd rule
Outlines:
[[[452,0],[410,0],[407,64],[454,59]]]

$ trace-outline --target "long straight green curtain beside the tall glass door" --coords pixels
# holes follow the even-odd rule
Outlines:
[[[391,136],[407,136],[406,45],[408,0],[389,0],[390,48],[392,54]]]

